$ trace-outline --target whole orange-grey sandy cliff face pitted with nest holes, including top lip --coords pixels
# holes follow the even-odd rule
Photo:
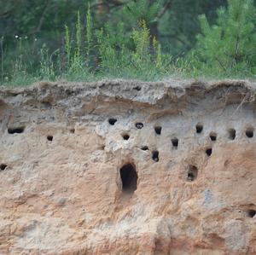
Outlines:
[[[256,84],[0,91],[1,254],[256,254]]]

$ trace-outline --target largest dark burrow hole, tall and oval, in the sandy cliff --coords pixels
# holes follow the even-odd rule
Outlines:
[[[123,193],[132,194],[137,189],[137,171],[130,163],[120,169]]]

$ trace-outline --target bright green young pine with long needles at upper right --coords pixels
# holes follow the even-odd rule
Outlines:
[[[253,0],[229,0],[228,9],[218,9],[217,24],[210,26],[200,16],[201,34],[197,36],[198,55],[202,66],[230,74],[256,67],[256,9]]]

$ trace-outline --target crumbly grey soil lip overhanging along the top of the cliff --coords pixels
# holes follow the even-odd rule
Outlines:
[[[209,94],[220,96],[236,94],[250,97],[255,101],[256,83],[248,80],[224,79],[217,81],[170,79],[160,82],[140,82],[136,80],[102,80],[100,82],[39,82],[26,88],[0,88],[0,100],[19,101],[14,98],[32,97],[44,101],[51,97],[60,101],[70,97],[94,98],[102,96],[113,100],[138,101],[140,103],[157,104],[168,97],[170,102],[182,100],[186,96],[203,98]],[[222,95],[223,94],[223,95]],[[21,99],[20,99],[21,100]],[[22,100],[21,100],[22,101]]]

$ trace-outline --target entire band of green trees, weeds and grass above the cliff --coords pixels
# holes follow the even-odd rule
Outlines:
[[[253,0],[229,0],[229,7],[218,9],[217,14],[213,9],[223,0],[198,0],[196,4],[194,0],[173,1],[168,9],[166,0],[104,0],[99,14],[95,1],[85,2],[88,9],[81,8],[82,0],[59,5],[57,1],[38,0],[37,7],[33,3],[27,7],[36,8],[35,14],[24,14],[20,9],[24,15],[15,14],[21,20],[16,30],[32,34],[1,38],[1,84],[58,78],[253,77],[256,71]],[[55,20],[56,7],[62,20]],[[206,13],[198,24],[197,13]],[[33,23],[36,15],[44,20],[41,25]],[[215,16],[217,20],[212,22]],[[104,20],[104,25],[99,20]],[[185,55],[195,44],[199,24],[196,47]],[[1,32],[8,30],[1,22],[0,28],[1,37]]]

